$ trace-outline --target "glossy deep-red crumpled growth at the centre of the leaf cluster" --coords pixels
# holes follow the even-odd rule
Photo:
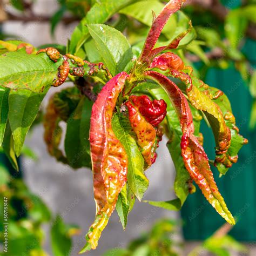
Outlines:
[[[139,112],[143,115],[147,122],[152,124],[154,127],[164,120],[166,116],[167,104],[163,99],[154,99],[151,101],[148,96],[142,95],[130,96],[129,100],[135,107],[138,108]]]

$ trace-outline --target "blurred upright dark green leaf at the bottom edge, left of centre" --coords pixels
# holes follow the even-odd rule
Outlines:
[[[68,227],[60,215],[57,215],[51,226],[51,247],[53,255],[70,255],[72,241],[68,236]]]

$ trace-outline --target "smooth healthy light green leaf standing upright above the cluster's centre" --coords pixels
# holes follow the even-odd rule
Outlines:
[[[126,37],[120,31],[103,24],[90,24],[87,28],[111,74],[122,72],[132,59],[131,46]]]

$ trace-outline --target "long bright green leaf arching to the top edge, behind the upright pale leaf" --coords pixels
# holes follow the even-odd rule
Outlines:
[[[102,0],[95,2],[86,16],[82,19],[79,25],[72,33],[69,50],[71,53],[79,51],[81,46],[89,38],[89,31],[87,24],[105,23],[111,16],[113,16],[120,9],[125,6],[137,2],[136,0]]]

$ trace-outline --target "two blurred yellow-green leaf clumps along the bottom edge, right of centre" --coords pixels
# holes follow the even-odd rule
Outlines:
[[[176,256],[183,251],[183,244],[177,240],[178,223],[174,220],[161,219],[155,223],[150,232],[142,234],[130,242],[126,249],[113,248],[103,256]],[[227,233],[230,225],[220,227],[211,237],[188,253],[189,256],[199,256],[203,253],[212,253],[216,256],[231,256],[235,252],[246,253],[246,247]]]

